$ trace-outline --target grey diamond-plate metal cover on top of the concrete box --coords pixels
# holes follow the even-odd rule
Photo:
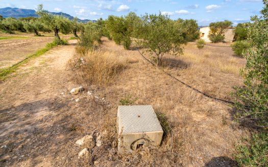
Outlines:
[[[120,105],[117,111],[119,131],[123,133],[162,131],[151,105]]]

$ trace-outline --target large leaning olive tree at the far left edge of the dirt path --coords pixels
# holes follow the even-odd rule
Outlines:
[[[40,17],[40,21],[54,32],[56,40],[60,40],[59,32],[68,34],[71,32],[71,24],[68,18],[62,15],[54,15],[43,9],[43,5],[38,5],[36,13]]]

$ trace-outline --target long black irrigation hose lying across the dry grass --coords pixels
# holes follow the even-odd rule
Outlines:
[[[138,49],[138,51],[139,51],[139,49]],[[144,55],[141,54],[140,51],[139,51],[139,53],[140,53],[140,55],[142,56],[143,59],[145,59],[146,61],[148,61],[149,63],[151,63],[153,66],[155,66],[155,64],[152,63],[149,59],[145,58]],[[200,90],[198,90],[198,89],[196,89],[196,88],[191,87],[190,85],[186,84],[185,82],[181,81],[180,79],[176,78],[175,76],[173,76],[172,74],[166,72],[165,70],[162,69],[162,71],[163,71],[165,74],[167,74],[168,76],[172,77],[173,79],[175,79],[175,80],[181,82],[181,84],[185,85],[186,87],[188,87],[188,88],[190,88],[190,89],[192,89],[192,90],[194,90],[194,91],[196,91],[196,92],[198,92],[198,93],[201,93],[202,95],[204,95],[204,96],[206,96],[206,97],[208,97],[208,98],[211,98],[211,99],[214,99],[214,100],[218,100],[218,101],[223,101],[223,102],[230,103],[230,104],[235,104],[235,103],[232,102],[232,101],[228,101],[228,100],[224,100],[224,99],[220,99],[220,98],[216,98],[216,97],[210,96],[210,95],[208,95],[208,94],[206,94],[206,93],[204,93],[204,92],[202,92],[202,91],[200,91]]]

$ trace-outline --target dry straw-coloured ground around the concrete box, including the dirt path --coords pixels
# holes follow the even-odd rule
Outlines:
[[[128,64],[111,84],[92,85],[79,79],[78,69],[69,70],[69,59],[78,57],[76,41],[70,43],[74,45],[31,60],[1,84],[0,166],[235,165],[234,144],[251,129],[233,122],[232,107],[185,87],[144,61],[137,50],[124,50],[107,38],[100,51],[124,57]],[[164,70],[209,95],[231,100],[232,87],[242,85],[239,68],[245,60],[228,47],[199,50],[190,43],[184,48],[177,58],[166,55]],[[78,86],[85,92],[71,95]],[[117,154],[117,107],[127,95],[165,115],[171,132],[160,148]],[[78,158],[82,148],[75,142],[86,134],[101,136],[102,145]]]

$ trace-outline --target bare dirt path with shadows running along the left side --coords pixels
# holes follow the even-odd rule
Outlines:
[[[40,129],[42,120],[51,115],[55,98],[66,91],[65,86],[68,82],[66,65],[75,53],[77,41],[71,40],[69,43],[70,45],[58,46],[29,62],[21,67],[15,76],[1,84],[0,159],[2,162],[12,163],[27,156],[20,154],[19,148],[23,147],[20,143],[25,145],[33,142],[29,137],[33,137],[31,135]]]

